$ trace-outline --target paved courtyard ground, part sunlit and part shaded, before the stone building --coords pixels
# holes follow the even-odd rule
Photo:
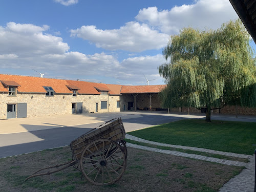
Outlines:
[[[80,135],[108,121],[121,117],[126,132],[177,121],[202,118],[201,114],[166,114],[148,112],[113,112],[70,114],[0,120],[0,158],[69,145]],[[256,122],[256,117],[214,115],[212,119]]]

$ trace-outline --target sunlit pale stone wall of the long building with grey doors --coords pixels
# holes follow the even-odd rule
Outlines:
[[[120,96],[109,95],[77,95],[54,94],[48,97],[46,94],[19,93],[16,96],[8,96],[7,93],[0,93],[0,119],[7,118],[7,104],[27,103],[27,117],[72,114],[72,103],[82,102],[82,113],[96,112],[118,112],[117,101]],[[107,109],[101,109],[101,101],[107,101]],[[121,105],[120,105],[121,106]],[[17,110],[16,110],[17,111]]]

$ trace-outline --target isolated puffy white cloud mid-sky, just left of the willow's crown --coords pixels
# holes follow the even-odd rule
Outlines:
[[[107,50],[125,50],[141,52],[161,49],[168,42],[168,35],[148,27],[147,24],[129,22],[120,29],[102,30],[96,26],[82,26],[71,30],[71,36],[77,36],[93,42],[96,47]]]

